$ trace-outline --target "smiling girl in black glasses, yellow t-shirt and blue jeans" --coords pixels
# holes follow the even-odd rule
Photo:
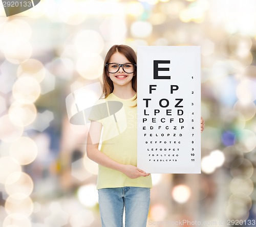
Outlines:
[[[137,167],[136,64],[131,47],[110,48],[103,69],[104,98],[98,100],[90,114],[87,156],[99,164],[102,227],[122,227],[124,207],[125,227],[145,227],[147,222],[152,180],[149,173]]]

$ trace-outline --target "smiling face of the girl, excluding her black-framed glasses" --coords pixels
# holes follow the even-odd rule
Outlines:
[[[125,64],[131,63],[123,54],[116,52],[110,58],[109,63]],[[116,86],[131,86],[134,73],[126,73],[122,67],[116,73],[108,73],[108,76],[113,82],[114,88]]]

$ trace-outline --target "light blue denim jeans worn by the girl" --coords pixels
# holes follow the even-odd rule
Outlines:
[[[123,187],[98,190],[102,227],[145,227],[150,207],[150,188]]]

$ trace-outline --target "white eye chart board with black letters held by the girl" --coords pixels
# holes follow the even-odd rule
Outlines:
[[[137,54],[137,166],[201,173],[200,46],[139,46]]]

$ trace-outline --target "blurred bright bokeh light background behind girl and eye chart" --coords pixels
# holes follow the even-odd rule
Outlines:
[[[202,174],[153,174],[147,226],[256,225],[256,1],[0,8],[1,227],[100,226],[88,125],[69,119],[98,97],[113,44],[201,46]]]

